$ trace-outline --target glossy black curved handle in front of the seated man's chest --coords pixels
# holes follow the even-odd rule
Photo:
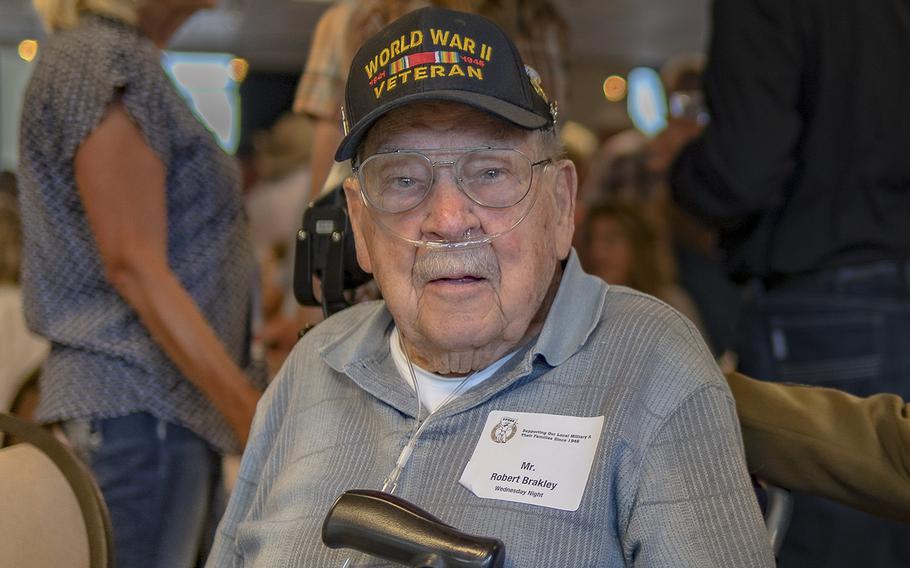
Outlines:
[[[381,491],[345,491],[326,515],[322,542],[412,568],[502,568],[505,545],[465,534]]]

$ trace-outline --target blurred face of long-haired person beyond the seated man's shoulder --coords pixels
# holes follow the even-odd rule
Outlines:
[[[614,217],[598,215],[588,221],[587,235],[588,272],[610,284],[630,285],[634,252],[622,224]]]

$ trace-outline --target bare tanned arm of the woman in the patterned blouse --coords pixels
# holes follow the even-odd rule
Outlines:
[[[246,442],[259,392],[167,264],[164,165],[120,103],[76,153],[76,184],[107,279]]]

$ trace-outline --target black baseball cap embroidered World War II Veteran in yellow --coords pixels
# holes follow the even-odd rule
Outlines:
[[[354,156],[370,126],[416,101],[452,101],[536,130],[556,120],[540,75],[492,21],[443,8],[409,12],[368,39],[351,63],[345,137],[335,159]]]

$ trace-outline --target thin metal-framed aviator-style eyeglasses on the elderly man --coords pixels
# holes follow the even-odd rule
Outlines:
[[[454,160],[434,161],[427,155],[453,151],[463,153]],[[353,170],[366,201],[386,213],[403,213],[420,205],[433,188],[437,166],[451,166],[455,184],[474,203],[505,209],[528,195],[534,167],[550,162],[550,158],[532,162],[508,148],[395,150],[373,154]]]

